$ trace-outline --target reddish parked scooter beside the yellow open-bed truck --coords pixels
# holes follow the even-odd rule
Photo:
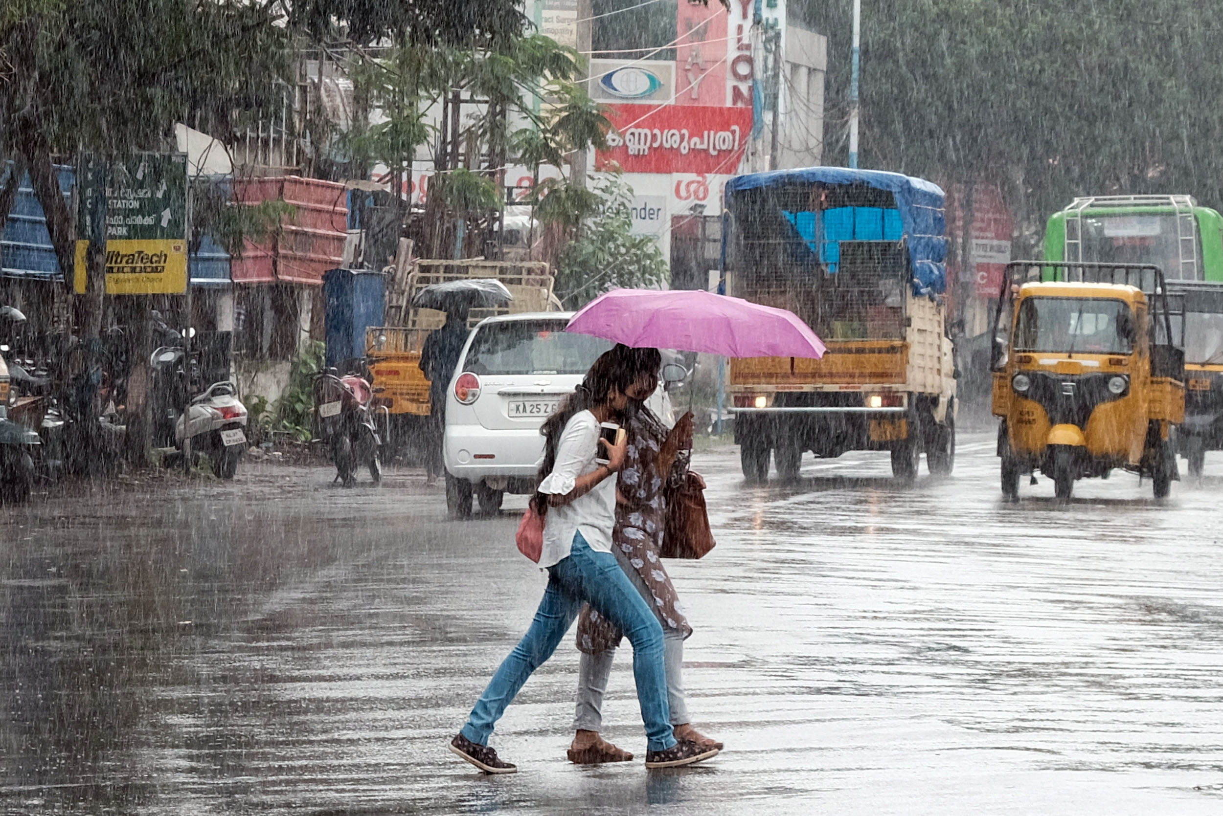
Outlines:
[[[374,484],[382,481],[382,440],[373,419],[373,390],[357,374],[340,376],[336,369],[314,377],[314,439],[328,446],[335,479],[345,487],[356,483],[361,465]]]

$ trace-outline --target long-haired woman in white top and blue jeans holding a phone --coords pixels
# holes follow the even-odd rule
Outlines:
[[[537,512],[545,513],[539,566],[548,569],[548,588],[531,628],[501,662],[467,724],[450,743],[453,752],[487,773],[517,770],[498,759],[488,738],[522,684],[556,650],[583,603],[614,622],[632,644],[637,700],[648,738],[646,767],[689,765],[718,752],[675,739],[662,625],[612,555],[614,476],[624,464],[626,443],[609,446],[600,440],[599,423],[620,418],[636,377],[634,369],[623,354],[603,354],[543,425],[543,481],[532,502]],[[600,451],[607,464],[596,462]]]

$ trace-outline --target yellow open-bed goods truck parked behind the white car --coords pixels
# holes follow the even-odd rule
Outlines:
[[[366,330],[366,355],[373,377],[374,404],[390,414],[390,445],[411,445],[429,415],[429,381],[421,371],[424,338],[445,322],[445,313],[413,309],[412,298],[427,286],[445,281],[494,277],[514,301],[497,309],[472,309],[468,326],[494,314],[555,311],[560,303],[552,292],[554,277],[543,261],[417,260],[401,283],[386,294],[385,326]]]

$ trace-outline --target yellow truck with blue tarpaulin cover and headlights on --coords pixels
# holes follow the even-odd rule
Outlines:
[[[729,294],[790,309],[828,346],[822,359],[730,364],[744,476],[783,479],[806,451],[889,451],[910,480],[955,457],[955,364],[942,293],[943,191],[893,172],[811,167],[726,183]]]

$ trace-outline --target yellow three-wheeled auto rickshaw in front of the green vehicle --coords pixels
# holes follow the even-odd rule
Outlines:
[[[1040,470],[1066,500],[1076,479],[1113,468],[1168,495],[1179,479],[1170,434],[1185,413],[1172,316],[1157,266],[1008,264],[991,365],[1004,497],[1018,498],[1020,476]]]

